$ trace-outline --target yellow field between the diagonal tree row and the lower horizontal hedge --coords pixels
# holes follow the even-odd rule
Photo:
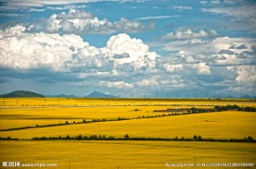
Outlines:
[[[199,135],[212,139],[256,138],[256,114],[248,112],[221,112],[195,115],[172,115],[125,121],[99,122],[60,127],[40,127],[0,132],[0,137],[32,139],[33,137],[106,135],[122,138],[192,138]]]

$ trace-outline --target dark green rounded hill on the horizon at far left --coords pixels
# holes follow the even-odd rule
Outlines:
[[[32,91],[12,91],[7,94],[0,95],[2,98],[44,98],[45,96]]]

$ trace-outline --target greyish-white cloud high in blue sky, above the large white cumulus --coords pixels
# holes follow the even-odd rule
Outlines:
[[[67,13],[62,12],[60,14],[53,14],[50,18],[45,18],[45,23],[43,25],[42,23],[33,23],[28,26],[28,29],[31,31],[74,34],[111,34],[118,31],[140,32],[151,28],[138,20],[121,18],[118,21],[111,22],[107,18],[99,19],[90,12],[78,9],[70,9]]]

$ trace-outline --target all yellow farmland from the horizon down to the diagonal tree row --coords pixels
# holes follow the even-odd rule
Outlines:
[[[154,110],[167,108],[212,108],[214,105],[255,106],[249,100],[201,99],[6,99],[0,101],[0,129],[59,124],[83,119],[116,119],[163,115]],[[134,111],[134,110],[137,111]]]

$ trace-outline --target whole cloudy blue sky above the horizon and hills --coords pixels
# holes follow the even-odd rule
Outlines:
[[[256,95],[256,3],[2,0],[0,93]]]

